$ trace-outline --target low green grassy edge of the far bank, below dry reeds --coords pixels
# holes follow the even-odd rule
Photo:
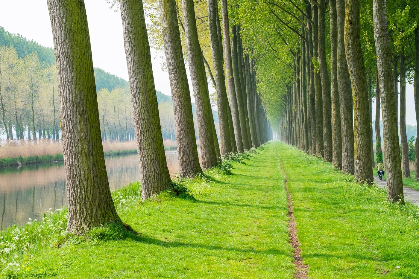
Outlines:
[[[176,147],[174,146],[165,146],[165,152],[174,151]],[[110,150],[103,152],[105,156],[114,156],[114,155],[124,155],[124,154],[135,154],[137,153],[137,149],[131,150]],[[0,158],[0,168],[5,167],[13,167],[18,165],[31,165],[31,164],[39,164],[39,163],[50,163],[50,162],[62,162],[64,161],[64,156],[62,153],[58,153],[56,155],[36,155],[36,156],[17,156],[17,157],[9,157],[9,158]]]

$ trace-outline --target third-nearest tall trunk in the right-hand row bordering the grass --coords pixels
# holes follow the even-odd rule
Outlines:
[[[336,0],[337,14],[337,80],[342,128],[342,173],[354,174],[354,116],[351,80],[344,43],[345,1]]]

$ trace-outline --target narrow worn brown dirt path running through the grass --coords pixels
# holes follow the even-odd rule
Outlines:
[[[277,155],[275,154],[275,156],[277,156]],[[278,160],[279,160],[279,158],[278,158]],[[295,220],[294,220],[294,209],[292,207],[290,191],[288,191],[288,186],[287,186],[288,176],[285,174],[284,168],[282,168],[281,160],[279,160],[279,164],[281,165],[281,171],[285,176],[285,190],[287,190],[288,217],[290,217],[290,222],[288,223],[288,230],[290,232],[290,244],[291,244],[292,248],[294,248],[293,258],[294,258],[294,265],[295,265],[295,269],[296,269],[296,271],[294,273],[294,278],[296,278],[296,279],[308,279],[308,277],[307,277],[308,265],[305,265],[304,262],[303,262],[303,258],[301,257],[300,242],[298,242],[298,238],[297,238],[297,229],[295,227],[296,225],[295,225]]]

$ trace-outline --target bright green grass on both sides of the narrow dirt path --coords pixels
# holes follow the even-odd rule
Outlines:
[[[241,163],[227,162],[232,164],[231,175],[215,168],[183,181],[194,198],[163,193],[141,202],[139,184],[114,192],[122,220],[137,233],[109,225],[79,237],[62,236],[62,229],[52,236],[44,232],[31,240],[44,243],[17,254],[19,266],[3,266],[2,274],[293,278],[279,159],[289,178],[309,278],[419,278],[416,206],[390,204],[383,190],[354,183],[352,176],[342,175],[331,164],[280,142],[268,143]],[[59,218],[65,221],[65,212],[57,214],[52,227]],[[14,258],[3,252],[1,257]]]

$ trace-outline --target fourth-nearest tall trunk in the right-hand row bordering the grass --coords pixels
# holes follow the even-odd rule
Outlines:
[[[339,86],[337,76],[337,15],[336,0],[330,0],[330,78],[332,94],[332,143],[333,143],[333,166],[342,168],[342,129],[341,112],[339,102]]]

